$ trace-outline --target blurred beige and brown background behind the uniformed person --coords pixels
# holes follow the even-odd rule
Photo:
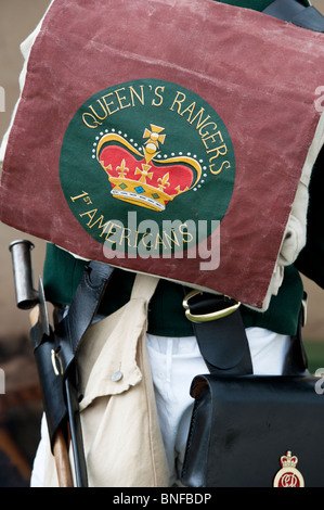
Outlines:
[[[37,26],[49,3],[49,0],[0,0],[0,87],[5,93],[4,109],[0,105],[0,140],[20,94],[23,65],[20,44]],[[312,3],[324,13],[324,0]],[[42,273],[46,251],[42,240],[0,224],[0,369],[5,375],[5,393],[0,395],[0,487],[28,485],[42,412],[28,336],[29,315],[15,304],[9,244],[16,239],[29,239],[35,244],[31,253],[35,285]],[[324,291],[307,279],[304,288],[309,306],[303,336],[314,371],[324,367]]]

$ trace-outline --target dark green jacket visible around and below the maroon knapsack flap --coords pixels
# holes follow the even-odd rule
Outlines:
[[[229,3],[256,11],[265,9],[272,0],[228,0]],[[309,3],[303,2],[306,5]],[[321,163],[322,162],[322,163]],[[258,313],[242,307],[246,327],[267,328],[282,334],[295,334],[298,315],[303,295],[299,270],[324,288],[324,269],[321,260],[324,253],[324,239],[319,237],[320,221],[324,206],[321,199],[321,171],[324,164],[324,151],[317,160],[311,180],[311,200],[309,207],[308,242],[297,263],[285,269],[283,284],[277,296],[273,296],[265,313]],[[315,262],[315,264],[313,264]],[[81,278],[85,263],[67,252],[49,244],[44,264],[44,290],[47,299],[54,304],[70,304],[74,292]],[[134,275],[120,269],[114,275],[108,291],[101,305],[100,313],[108,315],[122,306],[129,298]],[[186,336],[193,334],[191,322],[184,316],[182,307],[183,290],[181,285],[160,280],[150,304],[148,332],[166,336]]]

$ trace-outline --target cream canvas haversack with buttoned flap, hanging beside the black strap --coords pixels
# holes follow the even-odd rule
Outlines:
[[[129,303],[82,339],[80,416],[90,487],[169,483],[145,343],[147,305],[157,282],[138,275]],[[114,381],[116,372],[122,377]],[[49,444],[44,486],[57,486]]]

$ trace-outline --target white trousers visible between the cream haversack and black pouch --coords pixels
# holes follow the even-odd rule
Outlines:
[[[282,373],[289,336],[261,328],[246,330],[255,374]],[[207,373],[196,337],[146,335],[152,367],[159,425],[170,469],[169,485],[181,485],[179,476],[184,458],[186,437],[194,400],[190,385],[195,375]],[[41,436],[47,434],[42,419]],[[31,487],[43,485],[44,441],[41,438],[31,473]]]

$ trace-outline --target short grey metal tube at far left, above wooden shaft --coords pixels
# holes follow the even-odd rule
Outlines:
[[[39,302],[38,292],[34,289],[30,252],[34,244],[27,240],[13,241],[9,245],[12,256],[14,284],[17,307],[27,310]]]

